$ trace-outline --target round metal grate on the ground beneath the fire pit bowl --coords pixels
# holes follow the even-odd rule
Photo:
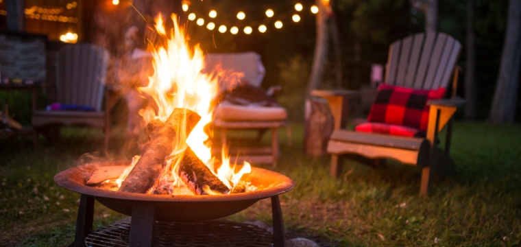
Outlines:
[[[88,247],[128,246],[130,222],[106,226],[90,233],[85,239]],[[154,246],[271,246],[273,235],[250,224],[224,220],[207,222],[156,222]]]

